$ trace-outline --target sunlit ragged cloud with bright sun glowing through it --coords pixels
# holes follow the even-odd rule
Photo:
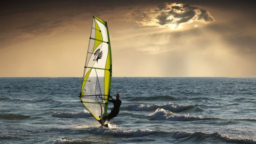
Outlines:
[[[137,23],[142,26],[169,27],[172,30],[182,29],[187,23],[210,23],[212,15],[198,7],[181,3],[159,5],[155,10],[144,12]]]

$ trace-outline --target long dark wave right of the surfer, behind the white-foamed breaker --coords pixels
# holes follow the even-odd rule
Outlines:
[[[126,107],[129,110],[132,111],[146,111],[146,110],[156,110],[158,108],[162,108],[165,110],[170,110],[173,112],[181,112],[181,111],[185,111],[185,110],[195,110],[195,109],[199,109],[202,110],[198,105],[178,105],[178,104],[174,104],[174,103],[167,103],[167,105],[156,105],[156,104],[148,104],[148,105],[144,105],[144,104],[132,104],[130,106]]]

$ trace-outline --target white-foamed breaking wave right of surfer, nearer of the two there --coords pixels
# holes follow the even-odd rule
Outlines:
[[[158,108],[155,111],[155,113],[151,115],[151,120],[155,120],[155,121],[199,121],[199,120],[209,120],[209,119],[220,119],[220,118],[206,117],[206,116],[190,116],[189,114],[179,115],[162,108]]]

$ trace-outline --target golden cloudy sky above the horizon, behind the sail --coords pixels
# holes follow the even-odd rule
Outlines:
[[[82,77],[92,17],[114,77],[256,76],[254,1],[1,1],[0,77]]]

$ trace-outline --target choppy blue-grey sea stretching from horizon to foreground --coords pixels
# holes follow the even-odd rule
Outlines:
[[[122,105],[108,128],[81,84],[0,77],[0,143],[256,143],[256,77],[113,77]]]

